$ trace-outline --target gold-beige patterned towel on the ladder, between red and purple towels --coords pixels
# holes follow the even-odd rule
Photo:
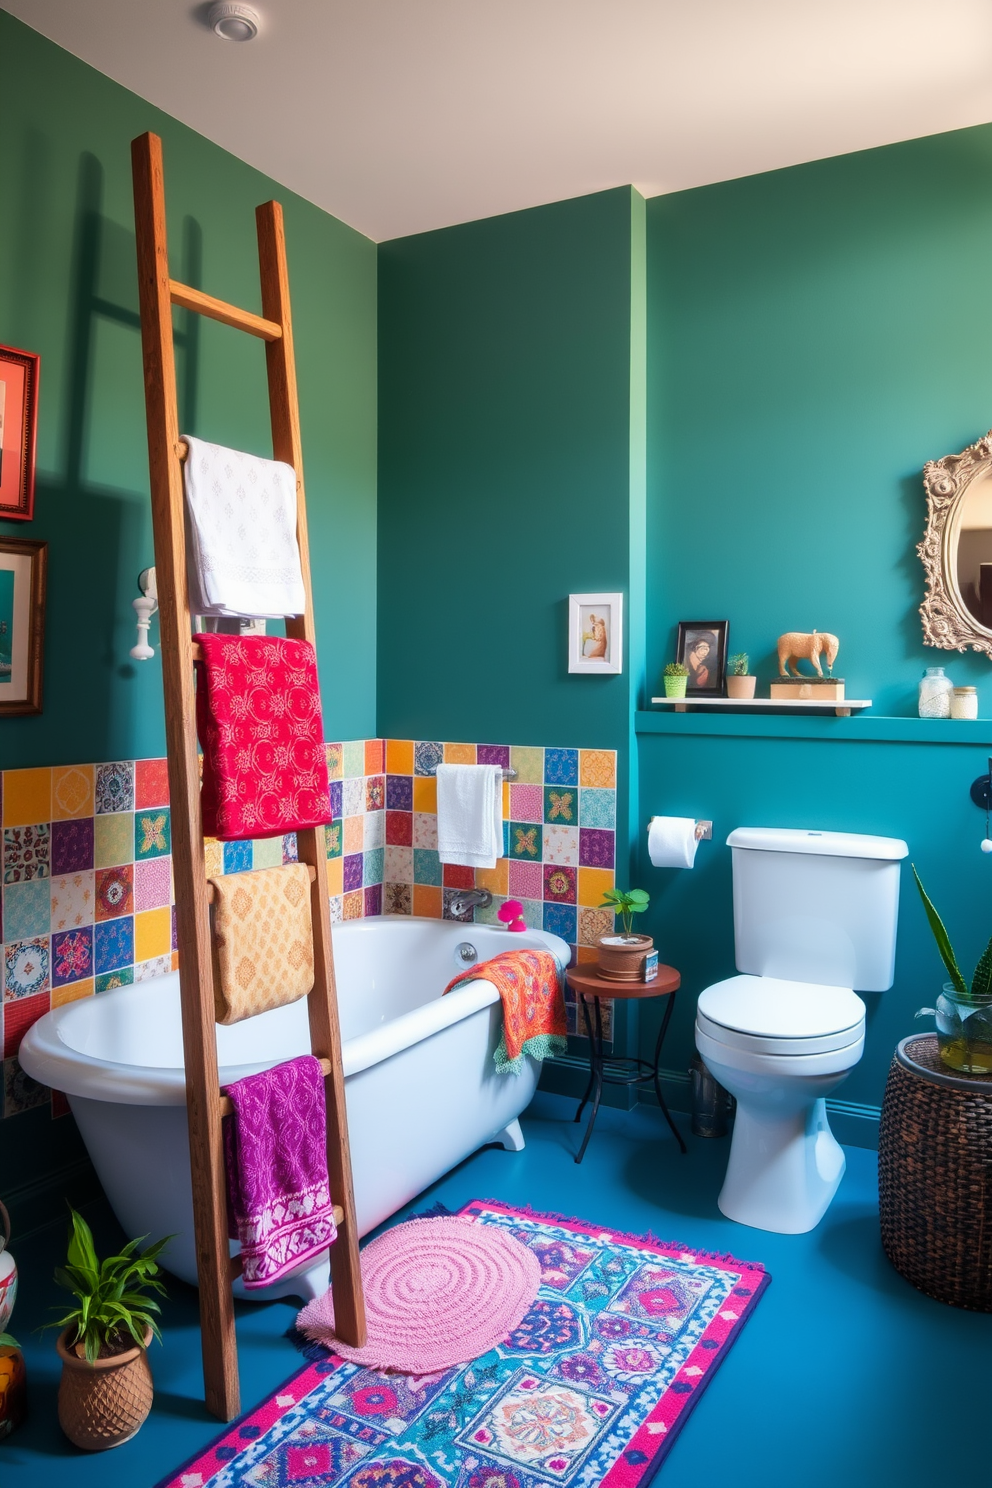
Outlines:
[[[305,997],[314,985],[306,865],[223,873],[210,882],[217,1022],[241,1022]]]

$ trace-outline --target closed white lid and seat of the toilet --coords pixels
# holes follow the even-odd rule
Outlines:
[[[814,1055],[857,1043],[864,1012],[849,987],[730,976],[699,994],[696,1027],[717,1043],[751,1054]]]

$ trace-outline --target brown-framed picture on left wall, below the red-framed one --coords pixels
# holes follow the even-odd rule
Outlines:
[[[0,717],[42,711],[48,543],[0,537]]]

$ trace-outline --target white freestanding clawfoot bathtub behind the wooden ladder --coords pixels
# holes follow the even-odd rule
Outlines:
[[[358,1232],[375,1229],[477,1147],[524,1146],[518,1117],[538,1065],[497,1074],[500,997],[474,981],[442,997],[476,958],[568,946],[540,930],[385,915],[335,926],[351,1165]],[[217,1027],[220,1083],[309,1051],[306,1001]],[[164,1263],[196,1284],[178,973],[57,1007],[21,1043],[33,1079],[64,1091],[128,1237],[174,1234]],[[231,1242],[232,1253],[236,1251]],[[318,1296],[327,1260],[238,1296]]]

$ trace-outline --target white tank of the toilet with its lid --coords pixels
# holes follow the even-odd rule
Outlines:
[[[903,841],[736,827],[727,847],[739,972],[861,992],[892,985]]]

